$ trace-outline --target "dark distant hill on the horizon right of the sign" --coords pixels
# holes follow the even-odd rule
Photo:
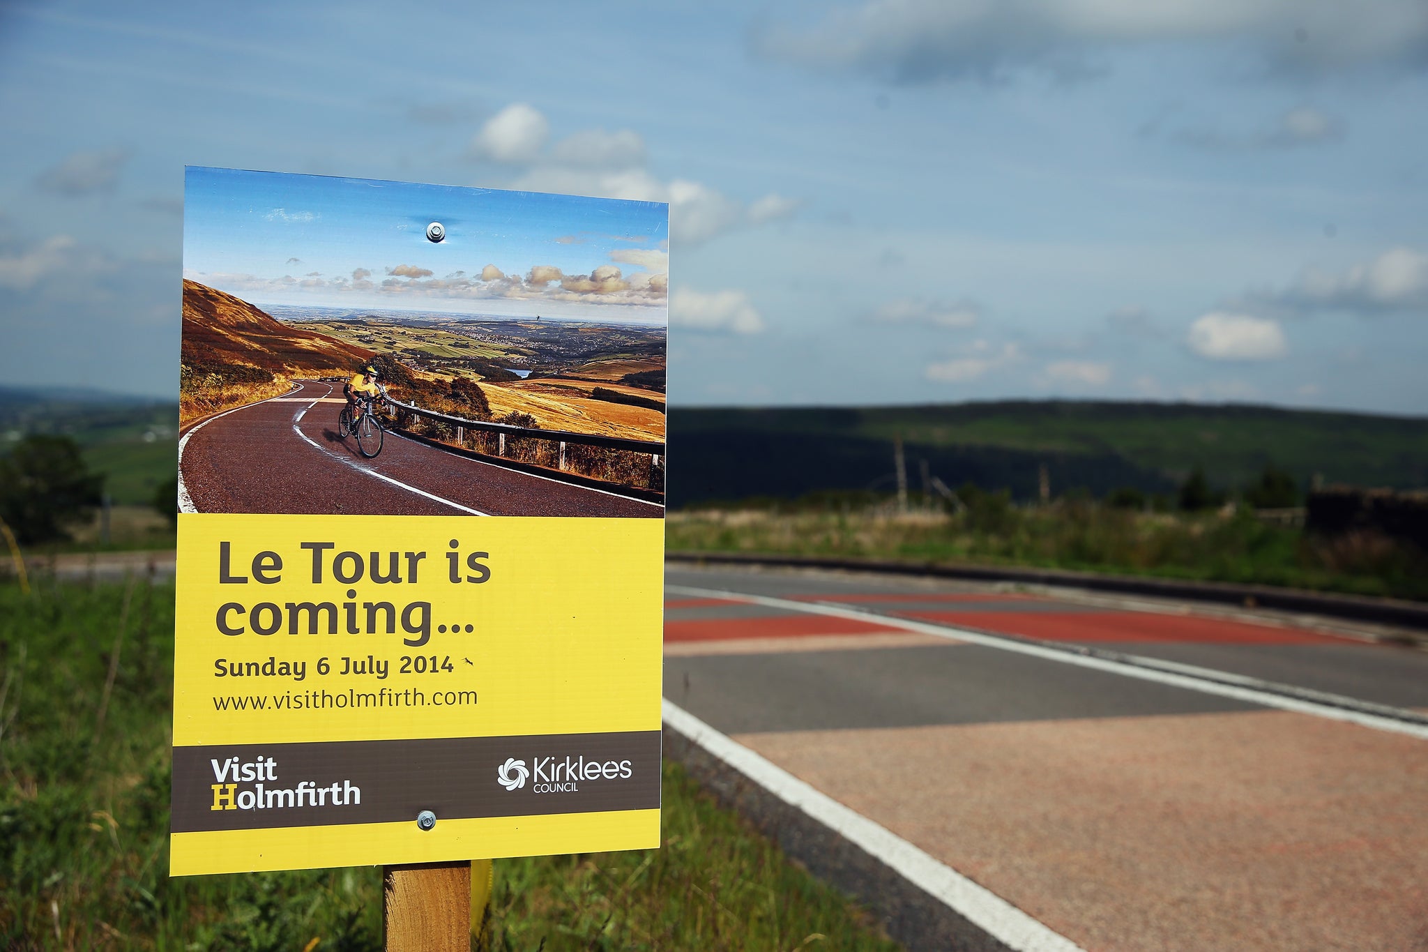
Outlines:
[[[891,488],[901,434],[908,482],[920,461],[950,485],[1018,498],[1038,488],[1167,492],[1197,465],[1240,487],[1274,464],[1307,485],[1428,485],[1428,418],[1275,407],[1004,401],[867,408],[670,410],[670,505],[815,490]]]

